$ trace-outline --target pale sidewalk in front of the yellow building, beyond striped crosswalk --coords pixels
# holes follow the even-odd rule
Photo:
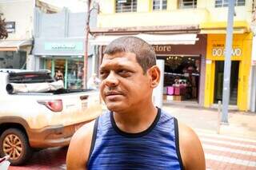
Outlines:
[[[162,109],[171,113],[178,121],[189,125],[196,131],[217,133],[217,109],[202,109],[182,105],[163,105]],[[229,125],[220,126],[220,134],[256,140],[256,113],[230,111]]]

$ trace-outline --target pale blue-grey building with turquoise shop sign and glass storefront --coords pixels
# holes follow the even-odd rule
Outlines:
[[[97,10],[90,13],[90,27],[96,26]],[[49,69],[56,77],[60,71],[66,89],[83,88],[86,13],[70,13],[64,8],[55,14],[34,12],[34,61],[35,69]],[[94,73],[98,63],[94,47],[88,52],[87,77]]]

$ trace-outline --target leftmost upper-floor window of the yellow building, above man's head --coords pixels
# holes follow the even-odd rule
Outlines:
[[[136,12],[136,10],[137,10],[137,0],[116,0],[115,1],[116,13]]]

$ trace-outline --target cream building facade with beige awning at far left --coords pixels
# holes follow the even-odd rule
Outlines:
[[[38,0],[0,0],[0,13],[6,19],[8,38],[0,40],[0,68],[31,69],[34,7],[54,13],[57,8]],[[15,11],[15,12],[14,12]]]

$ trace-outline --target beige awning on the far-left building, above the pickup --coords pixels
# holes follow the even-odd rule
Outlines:
[[[0,41],[0,51],[17,51],[22,46],[32,45],[31,40],[2,40]]]

